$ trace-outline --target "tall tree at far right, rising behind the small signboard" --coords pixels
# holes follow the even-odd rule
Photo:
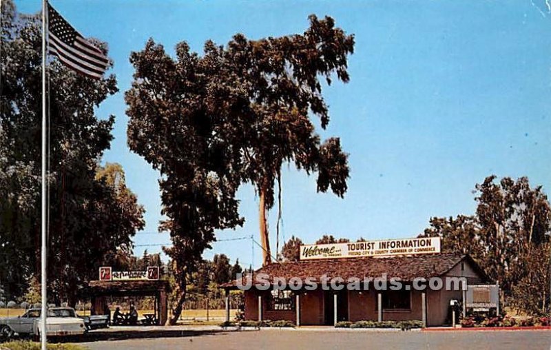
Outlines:
[[[528,271],[524,257],[545,243],[551,207],[542,187],[531,188],[526,177],[495,180],[496,176],[488,176],[476,186],[477,222],[488,247],[483,267],[509,295]]]

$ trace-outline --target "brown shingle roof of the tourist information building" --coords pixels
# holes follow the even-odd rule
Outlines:
[[[255,271],[255,274],[267,274],[269,280],[277,276],[289,280],[298,277],[302,280],[314,278],[319,281],[324,274],[328,278],[341,277],[347,280],[357,278],[399,278],[404,281],[412,281],[414,278],[431,278],[442,276],[457,265],[461,260],[468,260],[481,276],[482,280],[488,280],[484,271],[468,255],[459,254],[426,254],[417,256],[392,256],[388,258],[339,258],[302,260],[287,263],[272,263]],[[236,286],[236,281],[231,281],[222,288]]]

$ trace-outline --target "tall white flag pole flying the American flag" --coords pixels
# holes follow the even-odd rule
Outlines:
[[[41,349],[46,350],[46,318],[48,317],[48,298],[46,278],[46,249],[47,249],[47,223],[46,223],[46,21],[48,16],[47,0],[42,0],[42,203],[41,203],[41,319],[40,341]]]

